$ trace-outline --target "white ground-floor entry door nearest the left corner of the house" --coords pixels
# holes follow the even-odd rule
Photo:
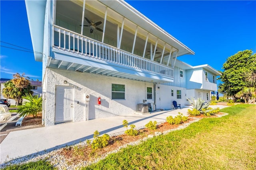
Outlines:
[[[56,86],[55,122],[72,121],[74,87]]]

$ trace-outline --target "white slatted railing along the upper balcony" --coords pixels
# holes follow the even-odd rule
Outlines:
[[[53,47],[98,60],[173,77],[173,68],[54,25]]]

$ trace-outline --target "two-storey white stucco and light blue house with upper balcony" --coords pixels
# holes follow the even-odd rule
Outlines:
[[[46,126],[126,115],[142,103],[170,109],[173,100],[209,101],[217,90],[218,71],[178,61],[194,52],[123,0],[25,3],[41,53],[34,57],[42,62]]]

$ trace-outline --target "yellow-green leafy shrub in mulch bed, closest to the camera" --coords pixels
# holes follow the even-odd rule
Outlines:
[[[100,149],[108,145],[110,136],[108,134],[104,134],[101,137],[99,137],[99,135],[100,135],[99,131],[94,132],[94,135],[93,135],[94,140],[92,141],[92,144],[91,144],[92,149]]]

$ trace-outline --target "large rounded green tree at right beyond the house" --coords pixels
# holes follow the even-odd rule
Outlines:
[[[220,80],[223,82],[218,86],[220,93],[233,98],[245,97],[241,95],[242,91],[248,92],[246,88],[250,87],[252,90],[255,87],[252,77],[256,73],[256,54],[252,53],[252,50],[244,50],[228,57],[223,64],[224,71],[220,76]],[[236,95],[239,93],[240,95]],[[251,92],[249,93],[249,96],[252,97]]]

